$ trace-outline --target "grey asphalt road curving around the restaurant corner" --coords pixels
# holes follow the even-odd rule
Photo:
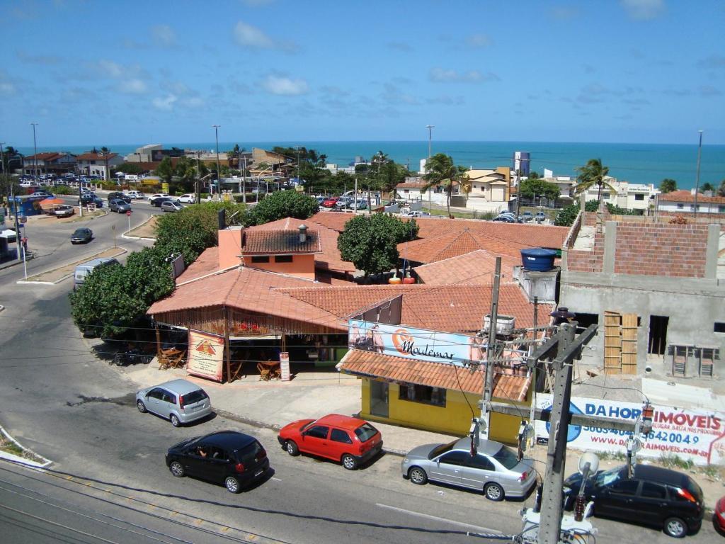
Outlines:
[[[135,209],[133,218],[144,213],[142,205]],[[89,245],[95,244],[94,251],[112,246],[111,226],[119,232],[125,222],[125,215],[116,214],[89,221],[96,232]],[[76,259],[84,247],[68,241],[75,226],[32,225],[28,237],[38,257],[28,265],[41,271]],[[0,271],[0,304],[6,307],[0,312],[0,424],[54,465],[31,472],[0,461],[4,543],[437,544],[471,542],[467,531],[521,529],[518,510],[531,498],[492,503],[479,493],[415,486],[400,477],[395,456],[346,471],[336,463],[289,457],[268,429],[220,416],[175,429],[142,415],[123,369],[99,360],[72,325],[70,280],[43,286],[15,284],[18,279],[22,266]],[[231,495],[167,471],[163,456],[170,445],[218,429],[257,436],[268,450],[270,477]],[[598,543],[671,543],[654,529],[600,519],[595,526]],[[705,523],[688,541],[720,538]]]

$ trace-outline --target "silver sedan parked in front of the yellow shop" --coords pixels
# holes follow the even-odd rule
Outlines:
[[[518,461],[513,450],[493,440],[481,440],[475,456],[471,456],[470,438],[418,446],[407,453],[400,468],[414,484],[430,480],[483,490],[490,500],[524,497],[537,481],[531,465]]]

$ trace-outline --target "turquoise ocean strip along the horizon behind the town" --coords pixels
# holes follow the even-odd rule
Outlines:
[[[694,136],[693,136],[694,138]],[[421,159],[428,156],[428,141],[236,141],[220,142],[219,150],[232,149],[234,144],[247,151],[252,147],[271,149],[305,146],[327,155],[327,162],[347,166],[355,157],[367,159],[379,151],[395,162],[410,165],[418,170]],[[129,154],[144,144],[99,144],[112,152]],[[163,143],[165,149],[215,149],[214,142]],[[94,147],[65,146],[41,147],[41,151],[67,151],[74,154],[87,152]],[[33,154],[33,148],[18,148],[23,154]],[[589,159],[599,158],[609,167],[609,175],[636,184],[659,186],[665,178],[677,182],[678,189],[692,189],[697,178],[697,144],[582,144],[535,141],[435,141],[431,152],[450,154],[456,164],[473,168],[495,168],[512,165],[513,152],[531,154],[531,170],[544,174],[544,168],[555,176],[576,176],[576,168]],[[700,160],[700,185],[709,182],[719,186],[725,179],[725,145],[703,145]]]

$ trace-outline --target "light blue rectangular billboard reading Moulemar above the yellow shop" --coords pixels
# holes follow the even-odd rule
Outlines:
[[[486,344],[478,337],[358,319],[349,320],[348,326],[351,349],[455,366],[486,358]]]

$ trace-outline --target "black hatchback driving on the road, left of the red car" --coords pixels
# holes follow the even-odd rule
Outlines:
[[[173,445],[166,453],[166,466],[175,477],[193,476],[223,484],[229,493],[239,493],[242,487],[265,477],[270,461],[256,438],[219,431]]]

